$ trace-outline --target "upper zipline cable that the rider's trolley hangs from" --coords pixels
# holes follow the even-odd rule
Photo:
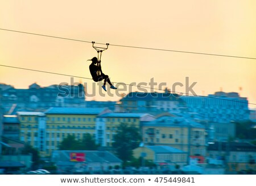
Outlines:
[[[44,36],[44,37],[56,38],[56,39],[72,40],[72,41],[75,41],[75,42],[92,43],[92,42],[85,41],[85,40],[63,38],[63,37],[59,37],[59,36],[51,36],[51,35],[44,35],[44,34],[35,34],[35,33],[31,33],[31,32],[23,32],[23,31],[17,31],[17,30],[8,30],[8,29],[5,29],[5,28],[0,28],[0,30],[11,31],[11,32],[18,32],[18,33],[22,33],[22,34],[38,35],[38,36]],[[105,44],[105,43],[96,43],[96,44]],[[214,53],[201,53],[201,52],[189,52],[189,51],[177,51],[177,50],[172,50],[172,49],[161,49],[161,48],[135,47],[135,46],[125,46],[125,45],[119,45],[119,44],[109,44],[109,45],[110,46],[115,46],[115,47],[150,49],[150,50],[156,50],[156,51],[181,52],[181,53],[192,53],[192,54],[197,54],[197,55],[210,55],[210,56],[221,56],[221,57],[236,57],[236,58],[242,58],[242,59],[254,59],[254,60],[256,60],[255,57],[243,57],[243,56],[221,55],[221,54],[214,54]]]

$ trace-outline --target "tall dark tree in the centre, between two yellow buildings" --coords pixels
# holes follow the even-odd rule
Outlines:
[[[124,162],[131,160],[133,149],[139,146],[141,135],[134,125],[122,123],[119,125],[117,134],[114,135],[113,148],[117,156]]]

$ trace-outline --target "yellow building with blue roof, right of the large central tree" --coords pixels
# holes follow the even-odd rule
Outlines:
[[[162,115],[154,121],[142,122],[145,145],[170,146],[190,156],[205,156],[205,127],[192,120]]]

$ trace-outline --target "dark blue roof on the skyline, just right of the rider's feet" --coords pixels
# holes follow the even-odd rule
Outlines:
[[[178,94],[172,93],[159,93],[159,92],[130,92],[122,100],[159,100],[159,101],[177,101],[179,100]]]

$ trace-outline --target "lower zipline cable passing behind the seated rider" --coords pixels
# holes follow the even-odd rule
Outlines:
[[[83,78],[83,79],[86,79],[86,80],[92,80],[92,78],[89,78],[89,77],[73,76],[73,75],[67,75],[67,74],[63,74],[63,73],[39,71],[39,70],[36,70],[36,69],[29,69],[29,68],[22,68],[22,67],[13,67],[13,66],[10,66],[10,65],[2,65],[2,64],[0,64],[0,66],[1,66],[1,67],[7,67],[7,68],[22,69],[22,70],[26,70],[26,71],[42,72],[42,73],[49,73],[49,74],[53,74],[53,75],[61,75],[61,76],[68,76],[68,77],[77,77],[77,78]],[[114,82],[114,83],[115,83],[115,84],[119,84],[119,85],[137,86],[137,87],[139,87],[139,88],[146,88],[146,89],[164,91],[163,89],[151,88],[151,87],[148,87],[148,86],[139,86],[139,85],[133,85],[133,84],[125,84],[125,83],[123,83],[123,82]],[[176,92],[176,91],[175,91],[175,92],[174,92],[174,91],[170,91],[170,92],[172,92],[173,94],[177,94],[177,93],[179,93],[179,94],[188,94],[188,95],[195,96],[195,97],[213,98],[213,99],[217,99],[217,100],[225,100],[225,101],[231,101],[231,102],[238,102],[238,103],[242,103],[242,104],[256,105],[256,104],[249,103],[249,102],[242,102],[242,101],[236,101],[236,100],[227,100],[227,99],[219,98],[219,97],[200,96],[200,95],[197,95],[197,94],[189,94],[189,93]]]

